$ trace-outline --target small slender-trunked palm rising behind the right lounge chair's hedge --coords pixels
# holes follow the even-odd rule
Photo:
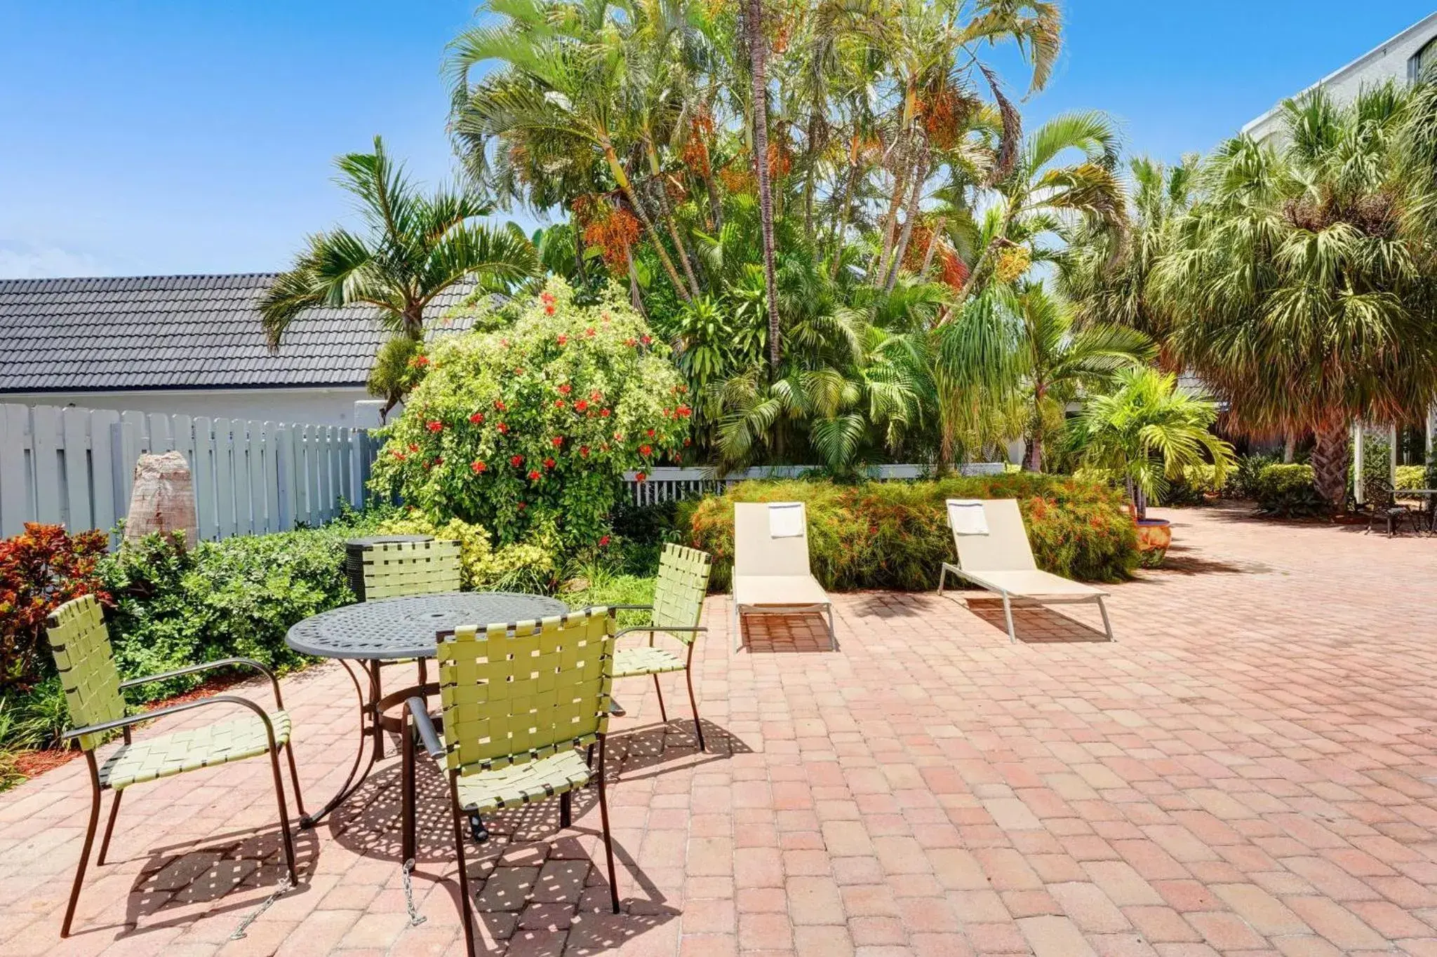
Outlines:
[[[1155,349],[1135,329],[1106,323],[1076,327],[1072,306],[1040,284],[1019,293],[1017,310],[1032,400],[1027,468],[1042,472],[1045,433],[1050,425],[1062,423],[1066,405],[1085,390],[1101,390],[1119,372],[1148,362]]]

